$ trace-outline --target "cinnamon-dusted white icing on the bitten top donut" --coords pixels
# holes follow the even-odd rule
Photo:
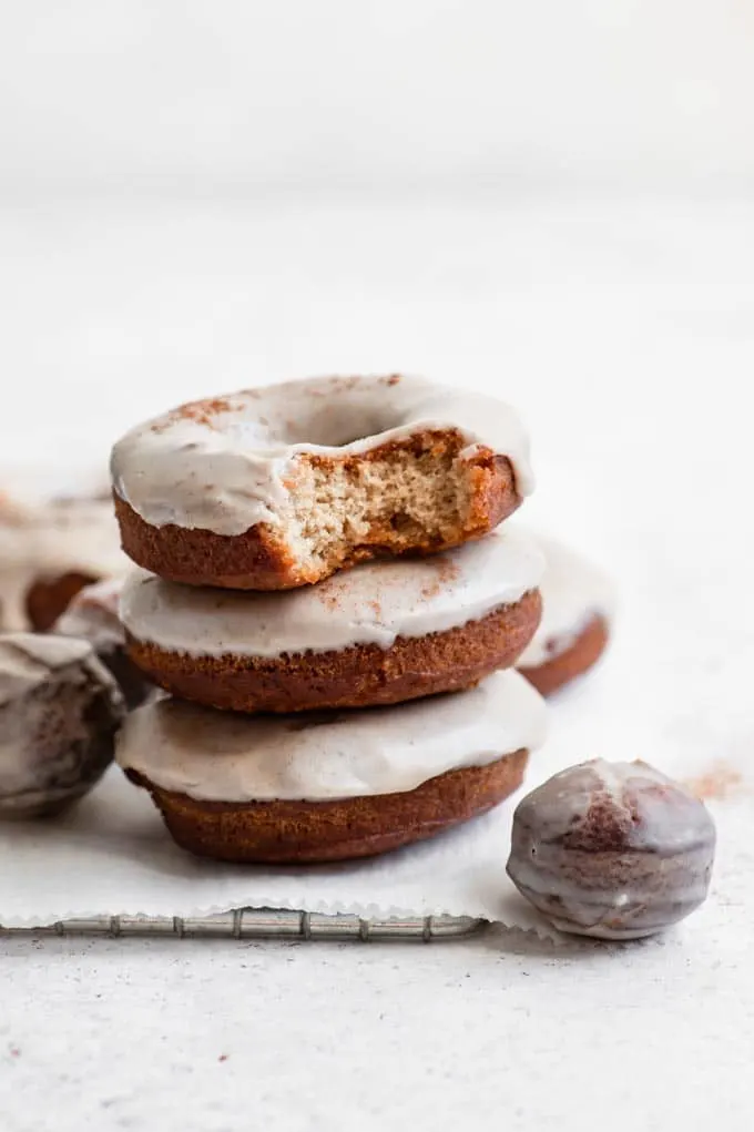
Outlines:
[[[529,440],[513,409],[426,378],[312,378],[229,394],[214,405],[147,421],[113,448],[115,491],[154,526],[235,535],[277,524],[298,454],[365,453],[418,429],[456,429],[468,454],[486,445],[507,456],[520,494],[533,489]]]

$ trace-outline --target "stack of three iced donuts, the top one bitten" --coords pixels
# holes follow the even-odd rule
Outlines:
[[[521,784],[545,557],[504,522],[532,488],[512,409],[397,375],[292,381],[132,429],[112,475],[129,655],[169,693],[117,758],[182,848],[371,856]]]

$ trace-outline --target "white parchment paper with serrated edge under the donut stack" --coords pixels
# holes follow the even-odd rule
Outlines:
[[[611,692],[620,688],[615,667],[608,661],[552,704],[551,738],[532,757],[526,786],[593,754],[651,753],[663,770],[699,781],[708,792],[740,799],[747,789],[744,767],[739,772],[730,762],[710,760],[702,749],[703,731],[699,749],[679,753],[669,745],[666,757],[658,757],[649,741],[661,721],[644,723],[641,740],[623,692]],[[505,873],[514,805],[512,799],[443,837],[361,864],[250,868],[182,852],[148,795],[113,767],[68,816],[0,827],[0,921],[37,926],[69,917],[198,916],[250,906],[363,916],[481,916],[556,937]],[[723,837],[731,805],[736,813],[731,800],[716,804]],[[730,833],[740,837],[745,850],[747,823],[731,821]]]

